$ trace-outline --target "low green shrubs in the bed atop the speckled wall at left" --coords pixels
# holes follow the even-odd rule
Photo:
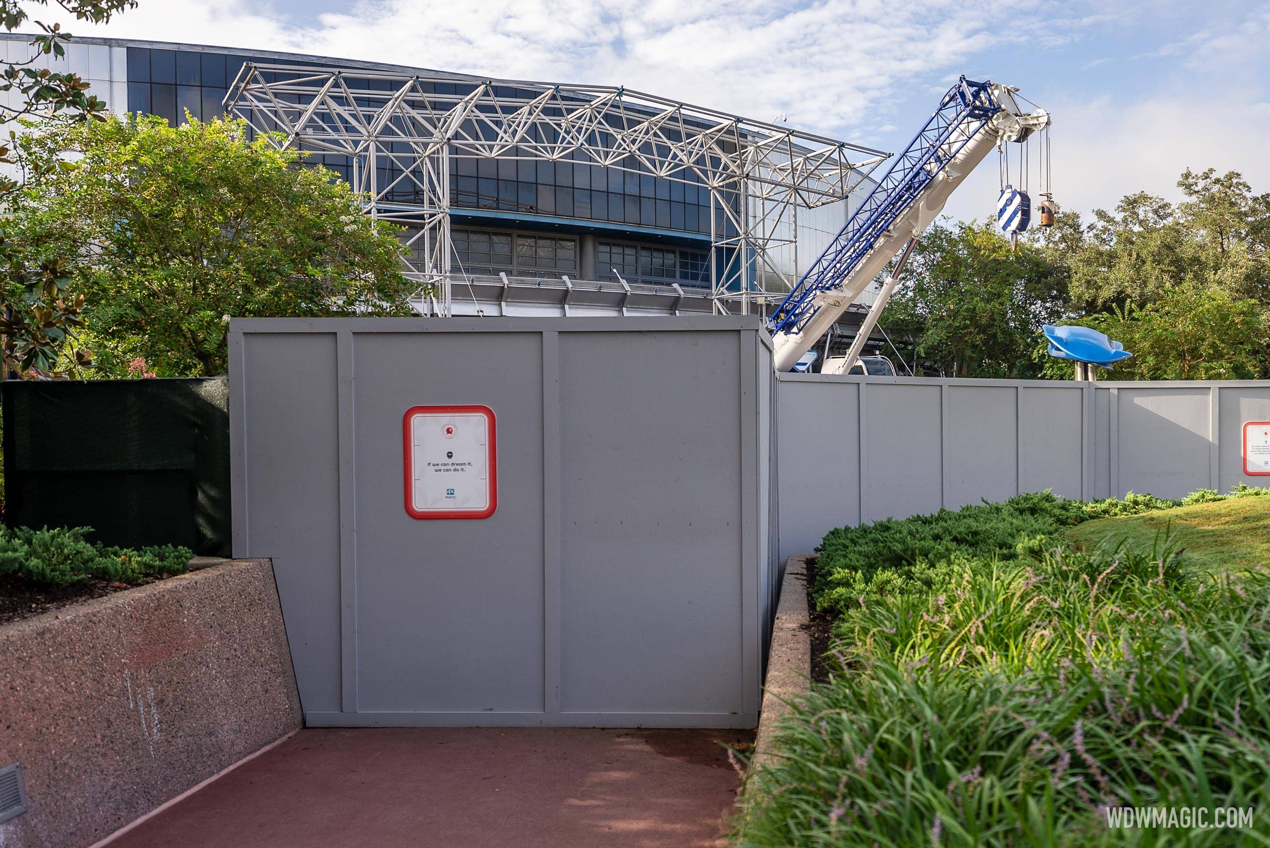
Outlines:
[[[90,576],[135,585],[182,574],[193,556],[189,548],[171,545],[103,547],[84,538],[91,532],[91,527],[0,528],[0,575],[39,586],[66,586]]]

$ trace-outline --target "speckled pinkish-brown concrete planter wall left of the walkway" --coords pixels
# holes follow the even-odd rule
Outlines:
[[[28,811],[0,845],[90,845],[300,724],[268,560],[5,625],[0,767]]]

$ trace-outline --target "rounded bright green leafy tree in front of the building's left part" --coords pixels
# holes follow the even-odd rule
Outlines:
[[[399,227],[331,171],[235,119],[128,116],[25,137],[22,159],[75,159],[23,192],[24,237],[74,256],[100,368],[224,373],[229,316],[413,315]]]

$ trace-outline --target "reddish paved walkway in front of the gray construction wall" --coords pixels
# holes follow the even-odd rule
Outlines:
[[[710,730],[302,730],[110,848],[725,845],[739,777]]]

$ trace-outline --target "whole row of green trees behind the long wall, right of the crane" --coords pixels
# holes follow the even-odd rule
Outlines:
[[[1039,333],[1062,321],[1134,353],[1110,372],[1119,380],[1267,377],[1270,194],[1213,169],[1187,169],[1177,187],[1180,203],[1137,192],[1088,223],[1062,212],[1017,253],[987,225],[937,225],[885,326],[950,376],[1069,380]]]

